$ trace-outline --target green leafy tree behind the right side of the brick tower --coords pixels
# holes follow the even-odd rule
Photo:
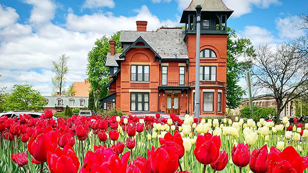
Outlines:
[[[228,27],[227,38],[227,107],[234,109],[241,104],[242,96],[245,93],[238,85],[240,78],[245,71],[251,69],[252,62],[239,61],[240,57],[254,57],[255,51],[251,41],[247,38],[238,38],[235,30]]]

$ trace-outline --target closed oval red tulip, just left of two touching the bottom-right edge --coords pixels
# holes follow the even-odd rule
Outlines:
[[[232,149],[232,161],[238,167],[246,167],[250,160],[250,149],[248,144],[239,143]]]

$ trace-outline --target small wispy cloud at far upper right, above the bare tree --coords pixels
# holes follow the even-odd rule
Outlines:
[[[279,36],[282,39],[295,39],[306,35],[305,31],[298,26],[302,19],[299,16],[288,16],[276,19],[276,28],[279,30]]]

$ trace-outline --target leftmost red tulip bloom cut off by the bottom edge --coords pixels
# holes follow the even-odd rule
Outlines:
[[[50,173],[77,173],[80,165],[69,144],[66,144],[63,150],[58,147],[54,152],[48,152],[47,164]]]

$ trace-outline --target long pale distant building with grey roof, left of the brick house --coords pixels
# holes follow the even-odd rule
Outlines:
[[[76,96],[44,96],[47,105],[45,109],[51,108],[52,112],[64,112],[66,105],[70,108],[83,108],[88,106],[89,97],[76,97]]]

